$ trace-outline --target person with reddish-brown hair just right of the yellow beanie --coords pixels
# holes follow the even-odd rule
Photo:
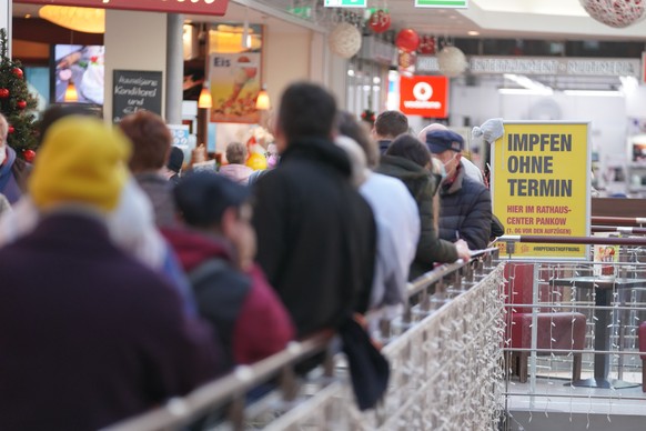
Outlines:
[[[163,228],[175,224],[173,183],[162,174],[172,143],[164,120],[151,111],[137,111],[124,117],[119,127],[132,141],[130,170],[152,202],[157,225]]]

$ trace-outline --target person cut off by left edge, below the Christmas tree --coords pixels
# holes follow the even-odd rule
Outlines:
[[[0,113],[0,193],[10,204],[18,202],[24,193],[30,164],[19,159],[16,151],[7,144],[9,123]]]

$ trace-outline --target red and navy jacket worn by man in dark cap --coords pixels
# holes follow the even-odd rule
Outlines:
[[[290,317],[258,265],[233,267],[229,244],[189,230],[163,230],[189,275],[198,310],[218,332],[228,365],[248,364],[285,348]]]

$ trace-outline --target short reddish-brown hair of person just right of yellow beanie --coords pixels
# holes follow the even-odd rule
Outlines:
[[[160,116],[150,111],[137,111],[124,117],[119,127],[132,141],[130,170],[152,171],[166,164],[172,137]]]

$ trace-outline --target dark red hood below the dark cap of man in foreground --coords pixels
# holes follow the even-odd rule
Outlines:
[[[162,229],[162,233],[186,272],[206,259],[220,258],[231,261],[231,248],[222,238],[189,229]]]

